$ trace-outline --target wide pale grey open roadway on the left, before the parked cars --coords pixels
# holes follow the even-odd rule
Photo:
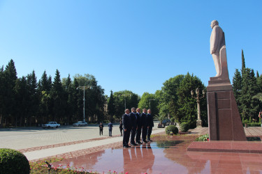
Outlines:
[[[154,129],[158,122],[154,122]],[[113,127],[112,135],[119,135],[119,124]],[[103,136],[108,136],[108,127],[104,127]],[[43,145],[67,143],[86,139],[99,138],[99,125],[87,127],[61,126],[59,129],[43,129],[41,127],[23,127],[0,129],[0,148],[20,150]]]

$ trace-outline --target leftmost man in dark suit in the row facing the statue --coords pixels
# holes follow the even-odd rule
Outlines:
[[[122,116],[122,122],[123,122],[123,147],[129,148],[129,137],[130,137],[130,131],[131,131],[131,119],[129,117],[129,109],[124,110],[124,115]]]

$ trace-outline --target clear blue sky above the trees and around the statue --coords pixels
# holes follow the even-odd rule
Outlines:
[[[187,72],[208,86],[213,19],[225,33],[231,81],[241,49],[261,74],[261,0],[0,0],[0,65],[13,58],[17,77],[93,74],[107,95],[155,93]]]

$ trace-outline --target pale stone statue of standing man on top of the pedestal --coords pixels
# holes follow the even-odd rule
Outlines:
[[[217,20],[211,22],[212,33],[210,36],[210,54],[214,60],[214,67],[216,68],[216,77],[221,76],[221,55],[220,49],[226,45],[224,31],[220,28]],[[227,66],[227,65],[226,65]],[[227,68],[227,67],[226,67]]]

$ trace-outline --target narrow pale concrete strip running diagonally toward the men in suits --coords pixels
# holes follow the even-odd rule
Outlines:
[[[152,131],[152,134],[158,134],[160,132],[164,132],[165,129],[154,129]],[[64,145],[60,147],[54,147],[54,148],[47,148],[43,150],[35,150],[31,152],[24,152],[24,155],[27,157],[29,161],[36,160],[36,159],[43,159],[46,157],[52,157],[52,156],[57,156],[61,154],[66,154],[69,152],[75,152],[78,150],[85,150],[88,148],[95,148],[97,146],[101,145],[110,145],[112,143],[121,143],[123,140],[122,136],[117,136],[117,137],[110,137],[108,139],[102,139],[102,140],[97,140],[97,141],[90,141],[87,143],[77,143],[73,145]],[[22,150],[21,150],[22,151]]]

